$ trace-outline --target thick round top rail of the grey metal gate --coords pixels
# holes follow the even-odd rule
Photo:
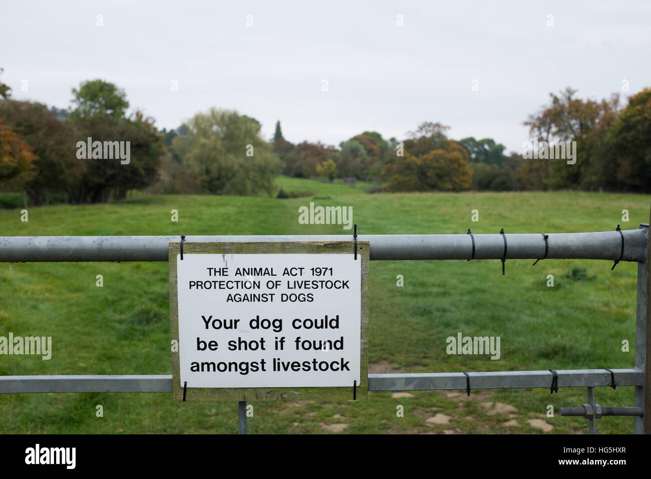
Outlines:
[[[618,231],[598,233],[547,233],[549,259],[607,259],[622,252]],[[648,233],[643,229],[622,230],[622,261],[643,262],[648,255]],[[473,235],[475,259],[501,259],[504,240],[500,234]],[[186,236],[186,242],[342,241],[350,235],[285,236]],[[358,235],[370,242],[370,259],[469,259],[470,235]],[[538,259],[545,254],[540,233],[506,233],[506,259]],[[167,261],[170,242],[178,236],[61,236],[0,237],[0,262],[21,261]]]

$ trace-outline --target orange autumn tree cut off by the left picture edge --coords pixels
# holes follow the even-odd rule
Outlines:
[[[0,184],[7,189],[22,189],[23,183],[34,174],[34,160],[29,145],[0,120]]]

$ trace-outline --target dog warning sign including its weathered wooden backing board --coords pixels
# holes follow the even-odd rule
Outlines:
[[[368,242],[169,245],[173,396],[367,398]],[[174,347],[176,345],[176,348]]]

